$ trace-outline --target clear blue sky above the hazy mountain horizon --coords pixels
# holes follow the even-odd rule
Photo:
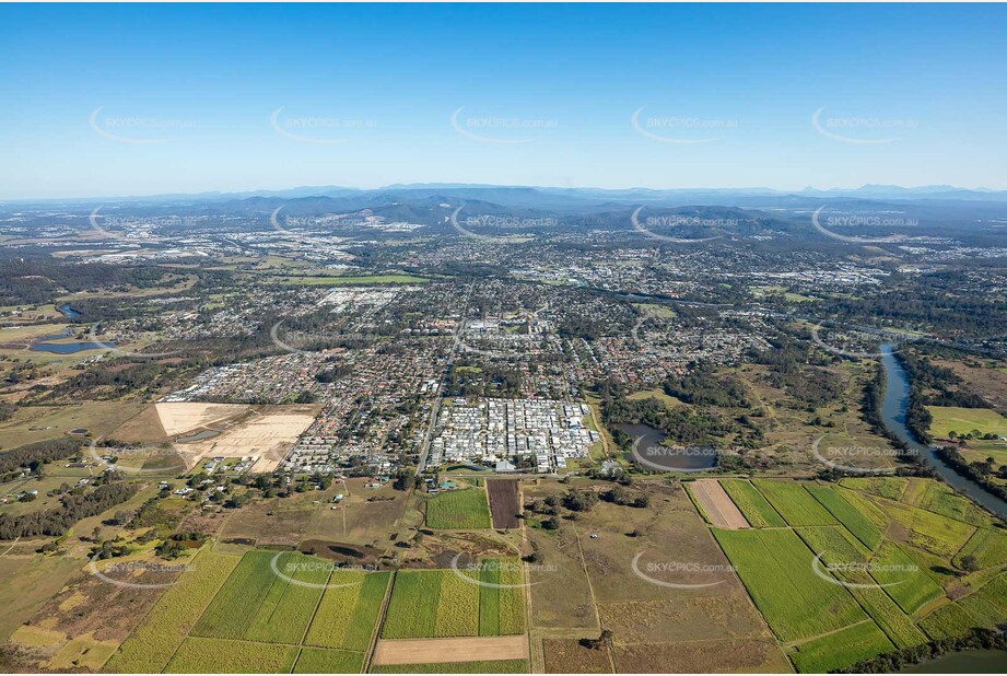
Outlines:
[[[1007,188],[1007,7],[8,4],[0,101],[0,199]]]

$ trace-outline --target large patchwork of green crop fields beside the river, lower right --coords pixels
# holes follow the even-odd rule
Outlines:
[[[711,531],[799,672],[1007,620],[1007,536],[938,481],[721,483],[752,527]]]

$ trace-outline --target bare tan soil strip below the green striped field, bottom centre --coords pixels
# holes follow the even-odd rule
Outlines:
[[[489,660],[527,660],[528,637],[403,639],[378,641],[372,664],[441,664]]]

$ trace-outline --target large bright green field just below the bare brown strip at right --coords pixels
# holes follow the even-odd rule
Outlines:
[[[715,529],[714,535],[782,641],[815,637],[867,619],[844,587],[815,574],[811,550],[794,532]]]

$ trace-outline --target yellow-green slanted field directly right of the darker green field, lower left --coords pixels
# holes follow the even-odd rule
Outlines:
[[[332,571],[305,644],[366,651],[390,578],[387,572]]]

